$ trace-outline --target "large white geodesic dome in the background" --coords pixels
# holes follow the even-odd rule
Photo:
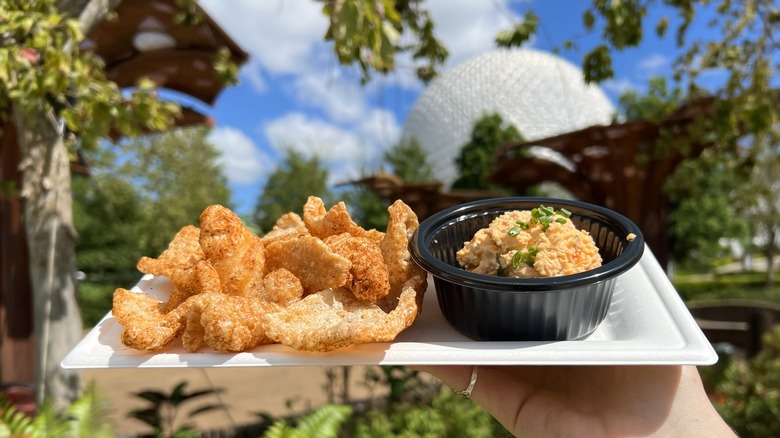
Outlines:
[[[417,139],[436,177],[450,184],[455,159],[474,123],[498,113],[526,140],[541,139],[612,120],[604,92],[586,85],[582,71],[556,55],[499,49],[447,70],[422,93],[402,138]]]

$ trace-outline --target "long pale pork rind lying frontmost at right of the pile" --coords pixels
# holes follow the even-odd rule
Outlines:
[[[402,287],[397,305],[389,313],[376,304],[359,301],[346,289],[317,292],[280,312],[264,315],[266,334],[277,342],[305,351],[392,341],[419,314],[417,295],[422,291],[412,284]]]

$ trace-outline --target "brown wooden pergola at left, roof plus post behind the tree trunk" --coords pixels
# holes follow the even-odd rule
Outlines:
[[[205,12],[194,25],[176,22],[175,0],[124,0],[115,18],[90,32],[81,45],[106,65],[110,80],[121,88],[147,77],[161,89],[173,90],[201,104],[213,105],[224,84],[213,68],[217,51],[230,50],[241,65],[248,54]],[[202,11],[201,11],[202,12]],[[211,124],[199,108],[183,106],[178,126]],[[20,187],[19,148],[13,125],[0,134],[0,188]],[[71,165],[84,173],[83,162]],[[0,383],[35,381],[32,288],[22,200],[0,191]]]

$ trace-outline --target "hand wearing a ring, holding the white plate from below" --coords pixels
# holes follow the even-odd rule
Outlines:
[[[472,370],[413,368],[458,390]],[[735,436],[695,367],[480,366],[471,397],[517,436]]]

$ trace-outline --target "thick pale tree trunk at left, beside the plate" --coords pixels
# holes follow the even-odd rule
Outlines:
[[[70,160],[56,120],[45,110],[25,117],[14,111],[20,148],[22,202],[36,333],[36,402],[44,396],[62,408],[81,389],[78,372],[60,362],[81,339],[76,303],[75,230]]]

